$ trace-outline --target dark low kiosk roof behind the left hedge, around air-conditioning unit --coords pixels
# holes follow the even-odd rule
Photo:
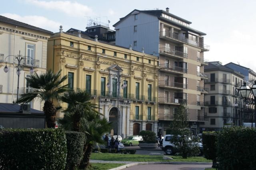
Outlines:
[[[9,103],[0,103],[0,113],[20,113],[20,105],[9,104]],[[30,108],[30,113],[44,114],[43,111],[31,109],[31,108]]]

